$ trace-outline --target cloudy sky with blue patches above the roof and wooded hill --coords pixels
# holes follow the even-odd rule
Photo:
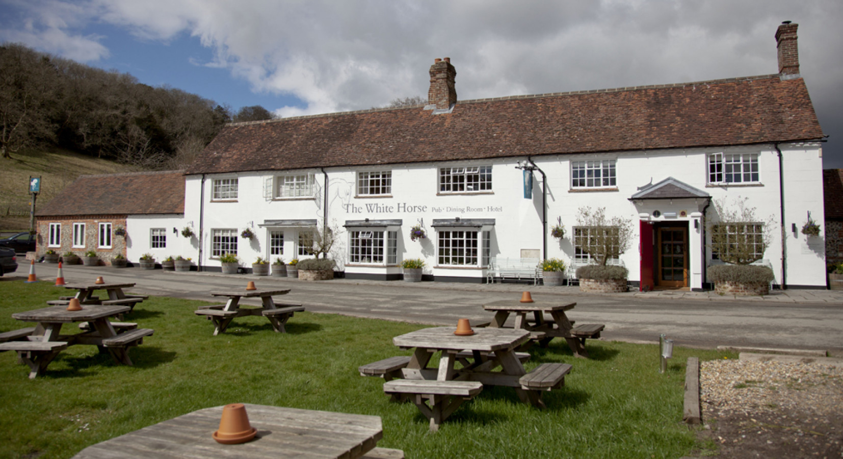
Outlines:
[[[0,41],[297,116],[427,96],[436,57],[460,100],[776,73],[782,20],[843,168],[840,0],[0,0]]]

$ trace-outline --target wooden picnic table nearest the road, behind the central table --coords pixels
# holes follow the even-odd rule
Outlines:
[[[565,311],[571,311],[576,305],[577,303],[568,301],[522,303],[519,300],[499,300],[483,305],[483,309],[495,311],[495,317],[489,327],[506,327],[507,319],[514,315],[513,327],[531,332],[531,339],[540,343],[542,347],[546,348],[553,338],[563,338],[575,356],[588,358],[585,339],[599,338],[604,325],[584,324],[573,327]],[[552,320],[547,320],[545,314],[549,314]]]

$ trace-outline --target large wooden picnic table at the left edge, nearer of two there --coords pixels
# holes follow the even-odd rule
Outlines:
[[[37,322],[38,325],[25,341],[0,343],[0,351],[17,351],[19,358],[30,366],[30,379],[42,375],[59,352],[74,344],[96,345],[100,350],[107,349],[118,364],[132,365],[127,348],[142,343],[142,338],[151,335],[153,330],[141,328],[115,332],[109,317],[129,310],[126,305],[83,305],[81,311],[67,311],[66,306],[56,305],[16,312],[12,315],[14,319]],[[88,331],[62,334],[62,325],[73,322],[88,322]]]

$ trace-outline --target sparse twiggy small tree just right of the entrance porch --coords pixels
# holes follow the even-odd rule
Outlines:
[[[747,205],[749,198],[737,198],[728,206],[725,198],[714,200],[717,221],[706,224],[711,235],[711,253],[722,262],[748,265],[764,258],[772,241],[775,220],[772,216],[762,220],[756,208]]]

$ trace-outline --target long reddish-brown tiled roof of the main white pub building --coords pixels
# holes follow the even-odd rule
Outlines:
[[[223,127],[187,173],[295,170],[822,138],[802,78],[778,75],[298,116]]]

